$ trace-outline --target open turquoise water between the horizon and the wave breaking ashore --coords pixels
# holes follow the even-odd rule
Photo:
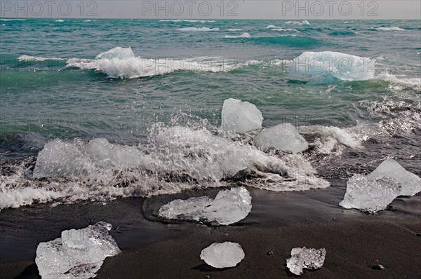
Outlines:
[[[229,97],[255,104],[264,126],[292,121],[346,127],[375,118],[367,113],[373,104],[419,111],[419,21],[286,22],[2,19],[2,154],[34,154],[56,137],[138,142],[152,123],[180,113],[219,125],[222,102]],[[186,27],[210,30],[180,30]],[[245,32],[250,38],[225,38]],[[92,60],[117,46],[145,60],[167,61],[156,67],[199,60],[203,69],[112,79],[105,71],[68,67],[70,58]],[[374,59],[375,78],[312,85],[288,74],[288,61],[305,51],[326,50]],[[20,61],[21,55],[33,58]],[[209,72],[209,66],[220,69]],[[116,71],[127,77],[142,69],[126,64]]]

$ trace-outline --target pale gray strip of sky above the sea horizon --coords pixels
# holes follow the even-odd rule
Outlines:
[[[0,0],[1,18],[418,19],[419,0]]]

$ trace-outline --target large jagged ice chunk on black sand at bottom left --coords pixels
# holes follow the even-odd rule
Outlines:
[[[62,237],[39,243],[36,266],[42,278],[94,278],[106,257],[121,252],[109,236],[111,224],[98,222],[85,229],[62,231]]]

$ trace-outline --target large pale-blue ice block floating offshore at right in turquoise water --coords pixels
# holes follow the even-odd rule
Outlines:
[[[332,79],[366,81],[374,77],[375,60],[333,51],[305,52],[293,60],[289,73],[310,76],[314,84],[328,83]]]

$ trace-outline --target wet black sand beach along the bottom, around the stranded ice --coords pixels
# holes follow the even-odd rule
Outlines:
[[[97,278],[293,278],[286,258],[293,247],[302,246],[326,248],[323,268],[305,271],[302,278],[420,278],[420,194],[397,198],[380,214],[367,215],[339,207],[345,187],[341,181],[333,184],[300,193],[249,189],[253,209],[234,226],[162,224],[143,217],[153,219],[156,208],[168,199],[203,192],[114,200],[107,206],[79,203],[5,210],[0,218],[1,278],[39,278],[34,265],[37,243],[59,237],[63,229],[100,220],[113,224],[110,233],[123,252],[105,259]],[[36,212],[39,218],[34,218]],[[22,233],[34,224],[44,229]],[[203,248],[224,241],[243,247],[246,257],[238,266],[216,270],[201,261]],[[267,255],[269,250],[274,253]],[[373,269],[377,264],[385,269]]]

